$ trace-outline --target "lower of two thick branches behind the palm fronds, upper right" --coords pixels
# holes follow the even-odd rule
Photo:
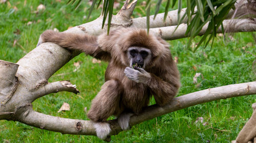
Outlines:
[[[205,24],[199,33],[203,35],[207,29],[208,23]],[[256,24],[251,23],[248,19],[233,19],[223,21],[224,30],[227,33],[238,33],[238,32],[254,32],[256,31]],[[150,28],[150,33],[160,36],[165,40],[175,40],[187,37],[185,35],[187,30],[187,24],[180,24],[175,31],[177,26],[167,26],[159,28]],[[227,28],[228,27],[228,28]],[[174,33],[175,31],[175,33]],[[218,28],[217,33],[222,33],[221,27]]]

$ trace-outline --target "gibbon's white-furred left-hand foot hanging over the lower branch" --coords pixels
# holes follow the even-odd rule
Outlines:
[[[101,139],[106,139],[106,136],[109,135],[111,131],[110,125],[105,122],[95,122],[93,126],[96,130],[96,134],[98,138],[101,138]]]

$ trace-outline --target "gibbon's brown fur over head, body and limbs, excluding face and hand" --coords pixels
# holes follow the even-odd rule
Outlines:
[[[156,103],[163,106],[175,97],[180,87],[179,71],[168,44],[159,37],[147,35],[145,30],[121,28],[97,38],[46,31],[41,39],[110,62],[105,71],[106,82],[93,99],[88,113],[93,121],[106,121],[111,115],[118,116],[123,111],[138,114],[148,105],[152,95]],[[137,83],[124,74],[124,69],[130,65],[126,53],[131,46],[148,48],[152,52],[152,58],[144,68],[151,77],[143,79],[143,83]]]

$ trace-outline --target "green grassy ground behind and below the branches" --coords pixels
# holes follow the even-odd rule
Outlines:
[[[45,11],[36,12],[39,4]],[[69,26],[87,22],[89,5],[83,2],[75,11],[65,1],[8,1],[0,4],[0,59],[16,63],[32,50],[39,35],[47,29],[65,31]],[[141,1],[134,17],[144,16]],[[90,20],[99,16],[95,11]],[[163,7],[160,10],[163,12]],[[31,23],[31,22],[32,23]],[[31,24],[30,24],[31,23]],[[198,40],[199,38],[197,38]],[[186,48],[188,39],[170,41],[173,57],[179,58],[182,87],[179,95],[214,88],[221,85],[255,80],[252,70],[255,44],[250,33],[234,34],[223,42],[219,36],[210,50],[198,49],[195,53]],[[193,46],[192,46],[193,48]],[[254,55],[253,55],[254,54]],[[74,62],[80,62],[75,72]],[[33,102],[36,111],[62,118],[88,120],[84,107],[90,108],[91,100],[104,83],[107,63],[94,64],[90,56],[80,54],[57,71],[50,81],[71,80],[77,84],[79,95],[67,92],[51,94]],[[196,73],[202,73],[198,84],[193,83]],[[78,76],[79,75],[79,76]],[[112,142],[229,142],[236,138],[251,116],[255,96],[244,96],[188,107],[156,119],[146,121],[112,136]],[[63,102],[70,111],[57,113]],[[153,104],[154,101],[151,101]],[[202,124],[195,124],[202,117]],[[111,118],[113,119],[113,117]],[[95,136],[62,135],[37,129],[13,121],[0,121],[0,142],[102,142]]]

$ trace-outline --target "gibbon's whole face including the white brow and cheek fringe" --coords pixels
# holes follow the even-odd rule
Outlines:
[[[127,50],[127,57],[130,67],[145,68],[151,60],[151,50],[144,47],[130,47]]]

